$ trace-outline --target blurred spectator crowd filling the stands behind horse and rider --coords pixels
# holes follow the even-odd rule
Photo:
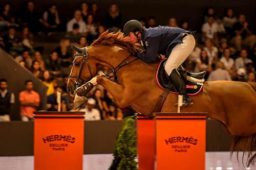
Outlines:
[[[57,92],[61,93],[61,110],[72,111],[73,99],[67,93],[68,74],[72,66],[74,51],[71,43],[79,47],[90,45],[106,29],[117,32],[125,21],[121,11],[112,4],[105,11],[104,21],[99,18],[97,3],[81,3],[74,11],[72,19],[63,23],[59,18],[56,5],[49,6],[41,14],[35,11],[35,3],[28,1],[26,9],[18,17],[12,12],[12,5],[6,3],[0,11],[0,47],[9,53],[15,61],[31,71],[47,86],[47,110],[56,111]],[[145,28],[157,27],[154,16],[138,19]],[[244,14],[227,9],[221,16],[209,7],[203,17],[201,33],[195,35],[197,44],[183,66],[190,71],[206,70],[207,81],[232,80],[255,82],[256,36]],[[193,31],[189,21],[178,22],[170,17],[168,27],[180,27]],[[64,29],[63,29],[64,28]],[[65,30],[66,28],[66,30]],[[36,45],[34,37],[50,37],[61,33],[59,44],[49,54],[44,45]],[[107,68],[102,68],[107,69]],[[8,82],[0,81],[0,121],[9,121],[14,94],[7,89]],[[121,120],[133,114],[129,108],[118,108],[111,94],[97,85],[89,94],[89,100],[81,111],[86,111],[87,120]],[[19,93],[20,116],[24,121],[32,119],[33,111],[39,106],[40,96],[33,90],[33,82],[26,81],[25,90]]]

